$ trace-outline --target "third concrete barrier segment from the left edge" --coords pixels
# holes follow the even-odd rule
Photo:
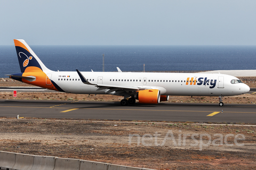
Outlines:
[[[30,170],[53,170],[55,167],[55,157],[34,156],[33,166]]]

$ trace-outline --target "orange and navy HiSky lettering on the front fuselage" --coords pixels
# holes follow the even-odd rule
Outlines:
[[[210,89],[213,89],[216,86],[217,80],[210,80],[207,78],[187,78],[186,85],[207,85],[210,86]]]

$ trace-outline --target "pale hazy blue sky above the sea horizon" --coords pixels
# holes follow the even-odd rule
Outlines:
[[[256,45],[255,0],[0,0],[0,45]]]

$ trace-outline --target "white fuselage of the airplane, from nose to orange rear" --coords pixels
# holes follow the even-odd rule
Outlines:
[[[244,83],[231,83],[237,78],[226,74],[206,73],[138,73],[81,72],[92,84],[158,89],[169,96],[234,96],[250,88]],[[47,76],[65,92],[74,94],[107,94],[94,85],[84,84],[77,72],[49,72]],[[111,93],[110,93],[111,94]]]

